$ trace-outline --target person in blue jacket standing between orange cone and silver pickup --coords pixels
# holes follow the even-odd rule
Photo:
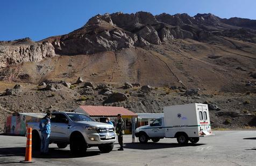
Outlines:
[[[41,149],[42,155],[48,154],[49,137],[51,134],[51,112],[47,112],[46,116],[40,120],[39,131],[41,131]]]

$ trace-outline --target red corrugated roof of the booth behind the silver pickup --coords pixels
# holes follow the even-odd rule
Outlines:
[[[134,112],[123,107],[81,105],[80,108],[89,116],[117,116],[118,114],[122,116],[137,116]]]

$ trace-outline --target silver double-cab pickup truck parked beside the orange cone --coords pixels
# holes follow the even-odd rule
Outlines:
[[[32,147],[40,148],[39,123],[27,123],[32,127]],[[115,129],[110,124],[95,122],[84,114],[75,112],[53,112],[51,118],[50,144],[65,148],[70,144],[74,154],[83,154],[88,147],[97,146],[103,153],[109,153],[116,141]]]

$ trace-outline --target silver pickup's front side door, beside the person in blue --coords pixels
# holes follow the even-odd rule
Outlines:
[[[68,118],[63,114],[53,114],[54,119],[51,122],[51,140],[68,141],[69,125]]]

